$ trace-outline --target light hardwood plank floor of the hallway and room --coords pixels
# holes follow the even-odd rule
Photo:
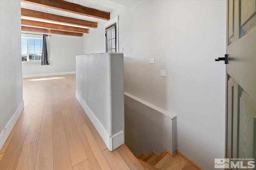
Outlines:
[[[0,170],[136,169],[122,149],[108,151],[75,91],[76,75],[23,79],[24,110],[0,151]]]

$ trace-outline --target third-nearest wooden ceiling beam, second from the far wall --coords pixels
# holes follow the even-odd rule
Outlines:
[[[39,21],[31,21],[31,20],[21,20],[22,26],[33,26],[38,28],[47,28],[52,30],[60,30],[60,31],[67,31],[67,32],[78,32],[78,33],[89,33],[88,28],[78,28],[78,27],[71,27],[71,26],[64,26],[59,24],[51,24],[47,22],[39,22]]]

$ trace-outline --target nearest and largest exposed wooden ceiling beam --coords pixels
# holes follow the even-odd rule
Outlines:
[[[94,18],[100,18],[103,20],[110,19],[110,13],[96,10],[93,8],[88,8],[82,5],[74,4],[71,2],[66,2],[63,0],[21,0],[21,2],[25,2],[28,4],[34,4],[39,6],[44,6],[47,8],[52,8],[55,10],[62,10],[66,12],[71,12],[75,14],[80,14],[84,16],[90,16]]]

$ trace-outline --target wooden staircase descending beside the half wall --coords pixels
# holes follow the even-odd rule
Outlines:
[[[202,170],[178,151],[172,154],[166,149],[160,155],[153,151],[149,155],[142,152],[139,156],[135,156],[125,144],[120,147],[138,170]]]

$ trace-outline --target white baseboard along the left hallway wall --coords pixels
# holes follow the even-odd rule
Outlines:
[[[4,130],[2,130],[0,134],[0,150],[2,149],[4,142],[7,140],[8,136],[10,135],[14,125],[18,121],[18,118],[20,117],[20,114],[24,108],[24,100],[20,103],[19,107],[15,111],[14,115],[10,119],[10,121],[7,123]]]

